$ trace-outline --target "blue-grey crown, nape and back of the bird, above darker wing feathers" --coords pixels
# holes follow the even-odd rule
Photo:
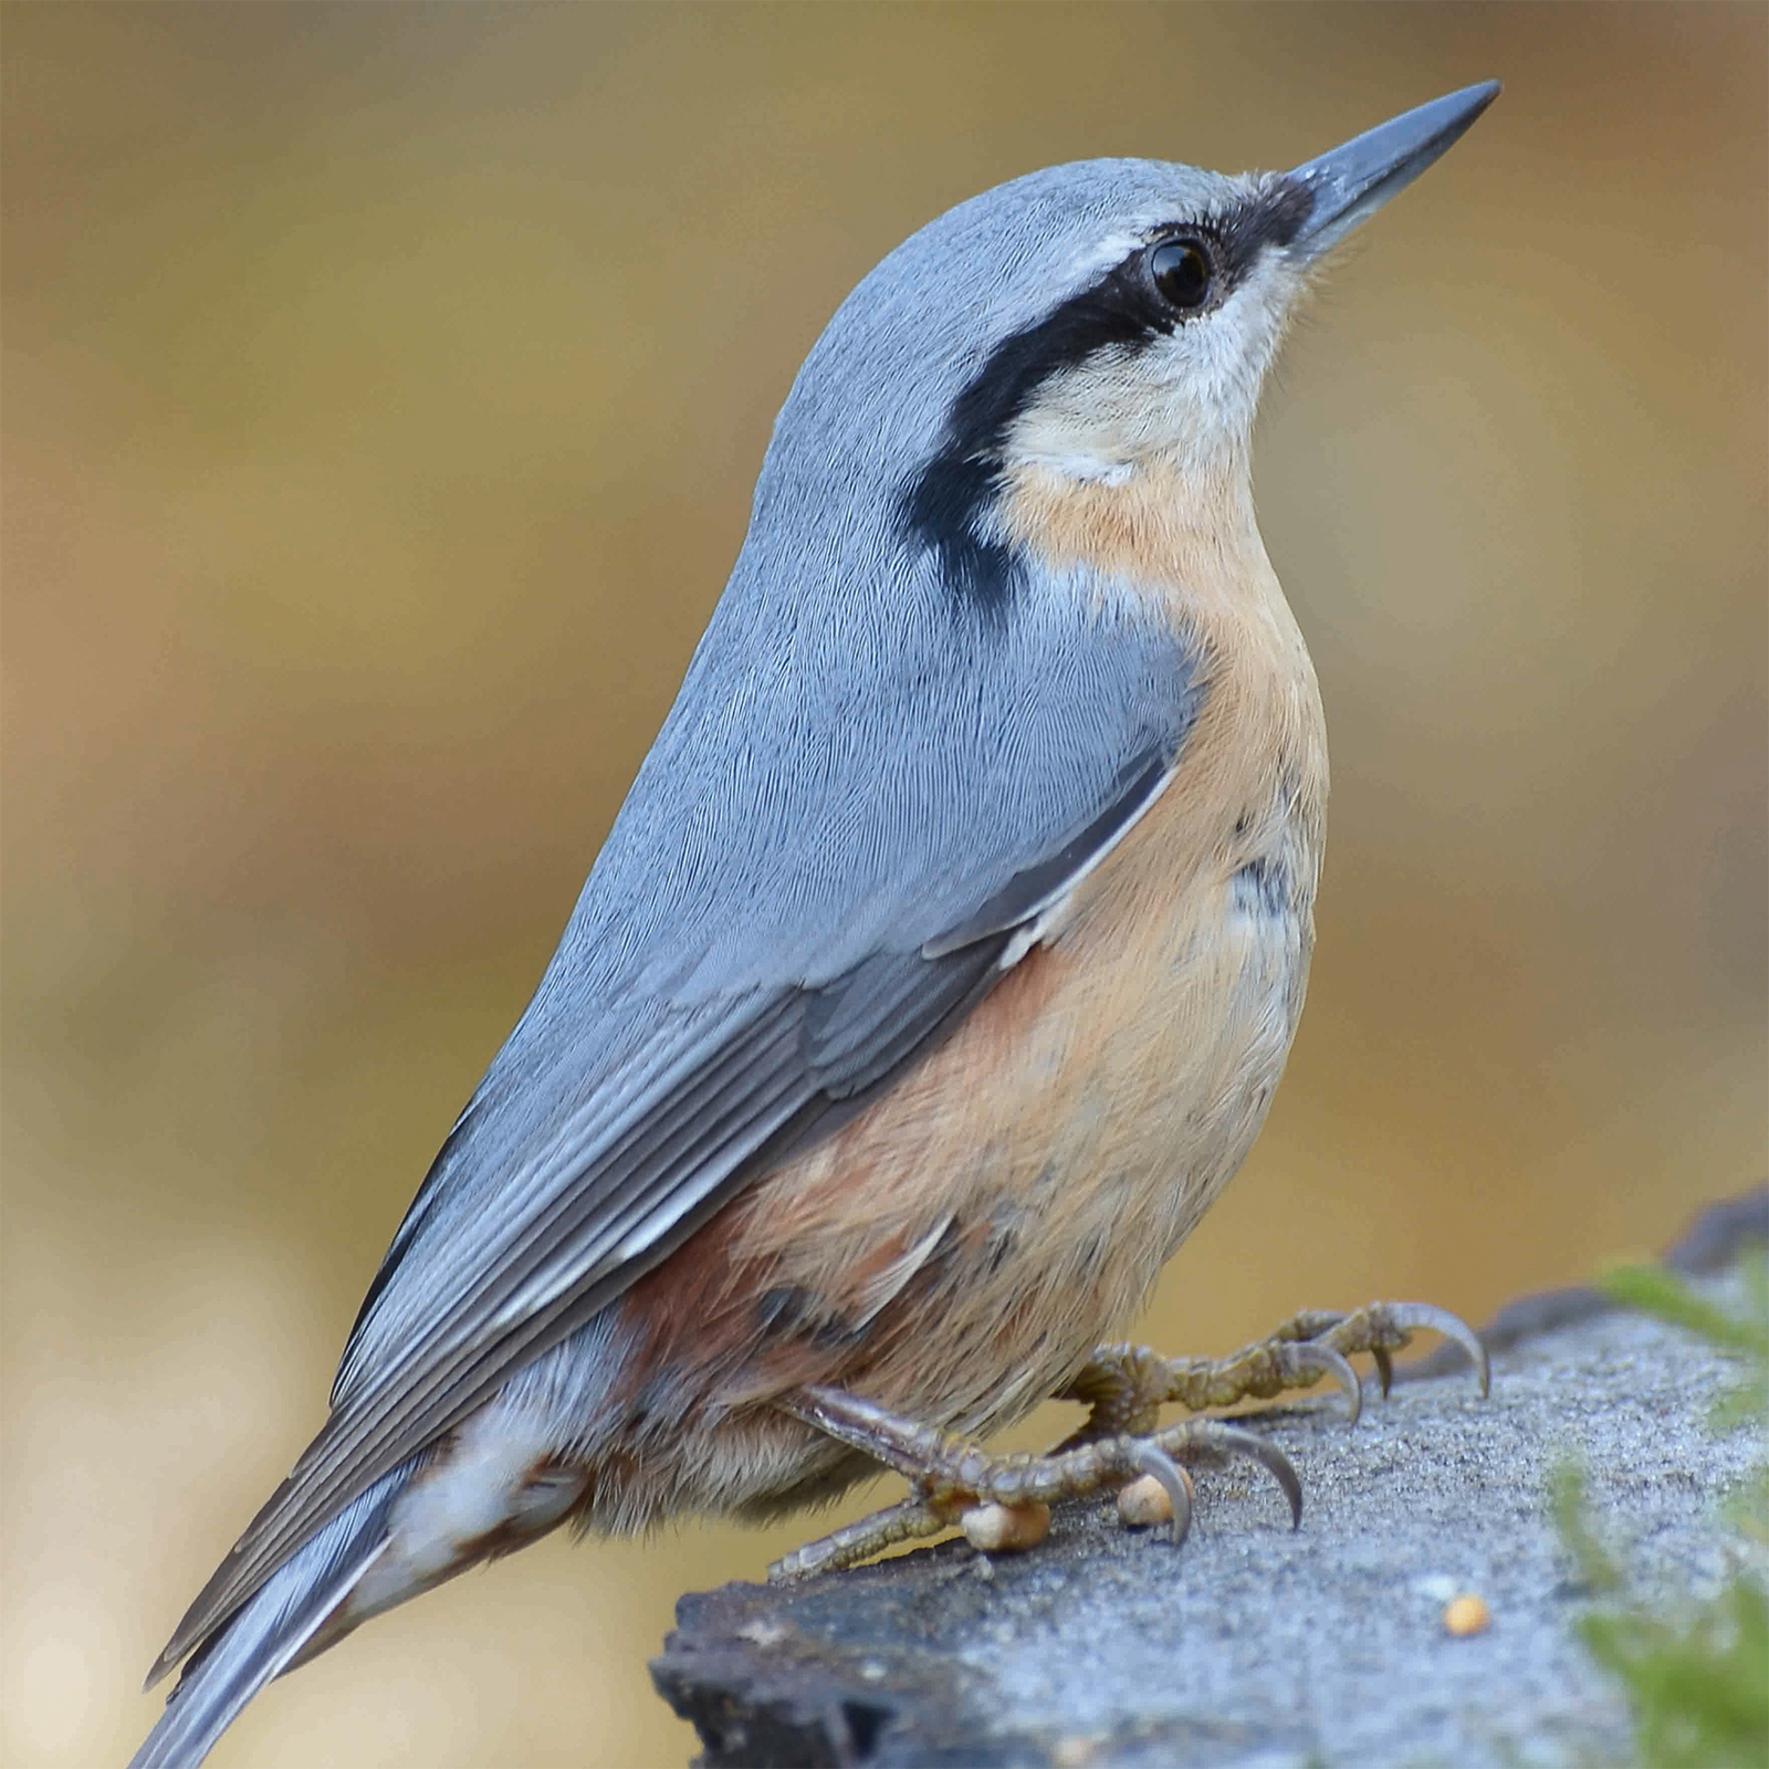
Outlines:
[[[1176,752],[1199,683],[1159,616],[1122,586],[1051,573],[980,609],[902,497],[992,347],[1139,228],[1249,182],[1051,168],[941,216],[842,304],[559,950],[364,1306],[356,1367],[377,1329],[398,1341],[451,1306],[476,1263],[462,1242],[492,1251],[488,1212],[600,1116],[598,1093],[644,1093],[702,1028],[771,992],[916,953],[1091,823],[1127,770]]]

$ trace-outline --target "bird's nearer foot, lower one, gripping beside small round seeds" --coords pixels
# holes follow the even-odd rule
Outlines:
[[[909,1497],[847,1523],[777,1560],[773,1580],[853,1566],[918,1535],[957,1523],[975,1546],[1026,1548],[1044,1534],[1049,1505],[1152,1477],[1168,1498],[1173,1539],[1191,1528],[1192,1486],[1180,1461],[1247,1456],[1261,1463],[1302,1520],[1302,1482],[1290,1458],[1249,1431],[1185,1421],[1160,1431],[1097,1436],[1047,1456],[989,1454],[952,1431],[916,1424],[844,1389],[803,1387],[775,1405],[909,1479]]]

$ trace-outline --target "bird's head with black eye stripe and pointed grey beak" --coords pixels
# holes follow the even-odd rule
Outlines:
[[[1293,172],[1095,159],[961,203],[830,322],[757,515],[828,524],[846,495],[851,525],[876,515],[991,603],[1053,501],[1122,488],[1178,520],[1194,502],[1219,522],[1224,495],[1251,511],[1260,387],[1311,269],[1497,92],[1422,104]],[[854,508],[867,499],[879,508]]]

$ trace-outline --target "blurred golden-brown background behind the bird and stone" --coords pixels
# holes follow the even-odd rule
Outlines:
[[[800,357],[909,230],[1051,161],[1288,166],[1507,81],[1267,402],[1334,739],[1320,955],[1143,1334],[1481,1318],[1758,1180],[1765,16],[7,7],[0,1757],[150,1725]],[[679,1764],[672,1599],[821,1523],[548,1543],[216,1760]]]

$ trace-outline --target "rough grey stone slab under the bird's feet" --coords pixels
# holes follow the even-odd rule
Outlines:
[[[1681,1249],[1719,1256],[1670,1263],[1719,1265],[1769,1201],[1721,1210],[1730,1237],[1707,1219]],[[1371,1394],[1355,1429],[1332,1399],[1258,1415],[1302,1472],[1300,1532],[1235,1465],[1199,1475],[1178,1553],[1099,1502],[1060,1507],[1026,1555],[946,1541],[801,1585],[725,1585],[681,1599],[656,1686],[708,1769],[1626,1762],[1620,1693],[1573,1633],[1589,1592],[1550,1477],[1578,1458],[1640,1594],[1677,1601],[1732,1571],[1716,1509],[1762,1438],[1711,1433],[1730,1371],[1709,1346],[1589,1293],[1507,1311],[1489,1346],[1484,1403],[1465,1369],[1421,1378],[1433,1360]],[[1445,1626],[1461,1594],[1486,1604],[1482,1631]]]

